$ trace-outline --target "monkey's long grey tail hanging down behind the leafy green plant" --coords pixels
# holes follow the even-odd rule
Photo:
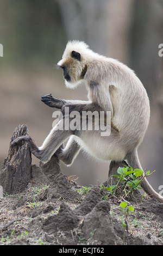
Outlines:
[[[132,153],[129,153],[126,156],[126,160],[129,164],[129,166],[133,167],[133,169],[135,168],[139,168],[142,170],[140,161],[139,161],[139,157],[137,154],[137,149],[135,149],[135,151],[133,151]],[[144,175],[144,174],[143,174]],[[159,193],[157,193],[153,187],[149,184],[149,182],[147,181],[146,177],[143,178],[142,182],[141,182],[141,187],[143,188],[143,190],[150,196],[150,197],[154,197],[156,198],[160,203],[163,203],[163,197],[160,196]]]

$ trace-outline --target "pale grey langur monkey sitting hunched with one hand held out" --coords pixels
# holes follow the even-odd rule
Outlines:
[[[80,149],[96,159],[109,161],[127,160],[129,166],[142,169],[137,148],[145,136],[150,116],[149,99],[141,81],[128,66],[112,58],[106,58],[90,50],[83,41],[69,41],[58,67],[64,72],[67,88],[85,84],[89,101],[61,100],[51,94],[41,100],[49,107],[61,109],[63,118],[53,127],[41,147],[30,136],[18,137],[29,143],[32,153],[48,162],[57,151],[58,157],[70,165]],[[100,130],[65,129],[65,107],[71,111],[110,111],[111,133],[102,137]],[[62,124],[64,129],[58,129]],[[68,139],[66,147],[61,145]],[[163,202],[144,178],[141,186],[150,196]]]

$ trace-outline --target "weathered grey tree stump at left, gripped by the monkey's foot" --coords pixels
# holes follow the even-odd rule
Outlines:
[[[22,135],[28,135],[28,127],[20,125],[11,137],[11,142]],[[8,194],[17,193],[27,187],[31,179],[32,155],[27,142],[11,146],[8,157],[2,163],[0,173],[0,185],[3,192]]]

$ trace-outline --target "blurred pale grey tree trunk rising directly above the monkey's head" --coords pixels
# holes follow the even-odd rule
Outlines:
[[[86,40],[92,50],[128,63],[134,0],[123,0],[123,4],[122,0],[58,3],[68,40]]]

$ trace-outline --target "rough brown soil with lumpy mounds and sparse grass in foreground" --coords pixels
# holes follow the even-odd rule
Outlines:
[[[0,198],[0,244],[163,245],[163,204],[139,193],[126,200],[134,212],[123,228],[121,195],[84,193],[75,177],[32,165],[28,186]]]

